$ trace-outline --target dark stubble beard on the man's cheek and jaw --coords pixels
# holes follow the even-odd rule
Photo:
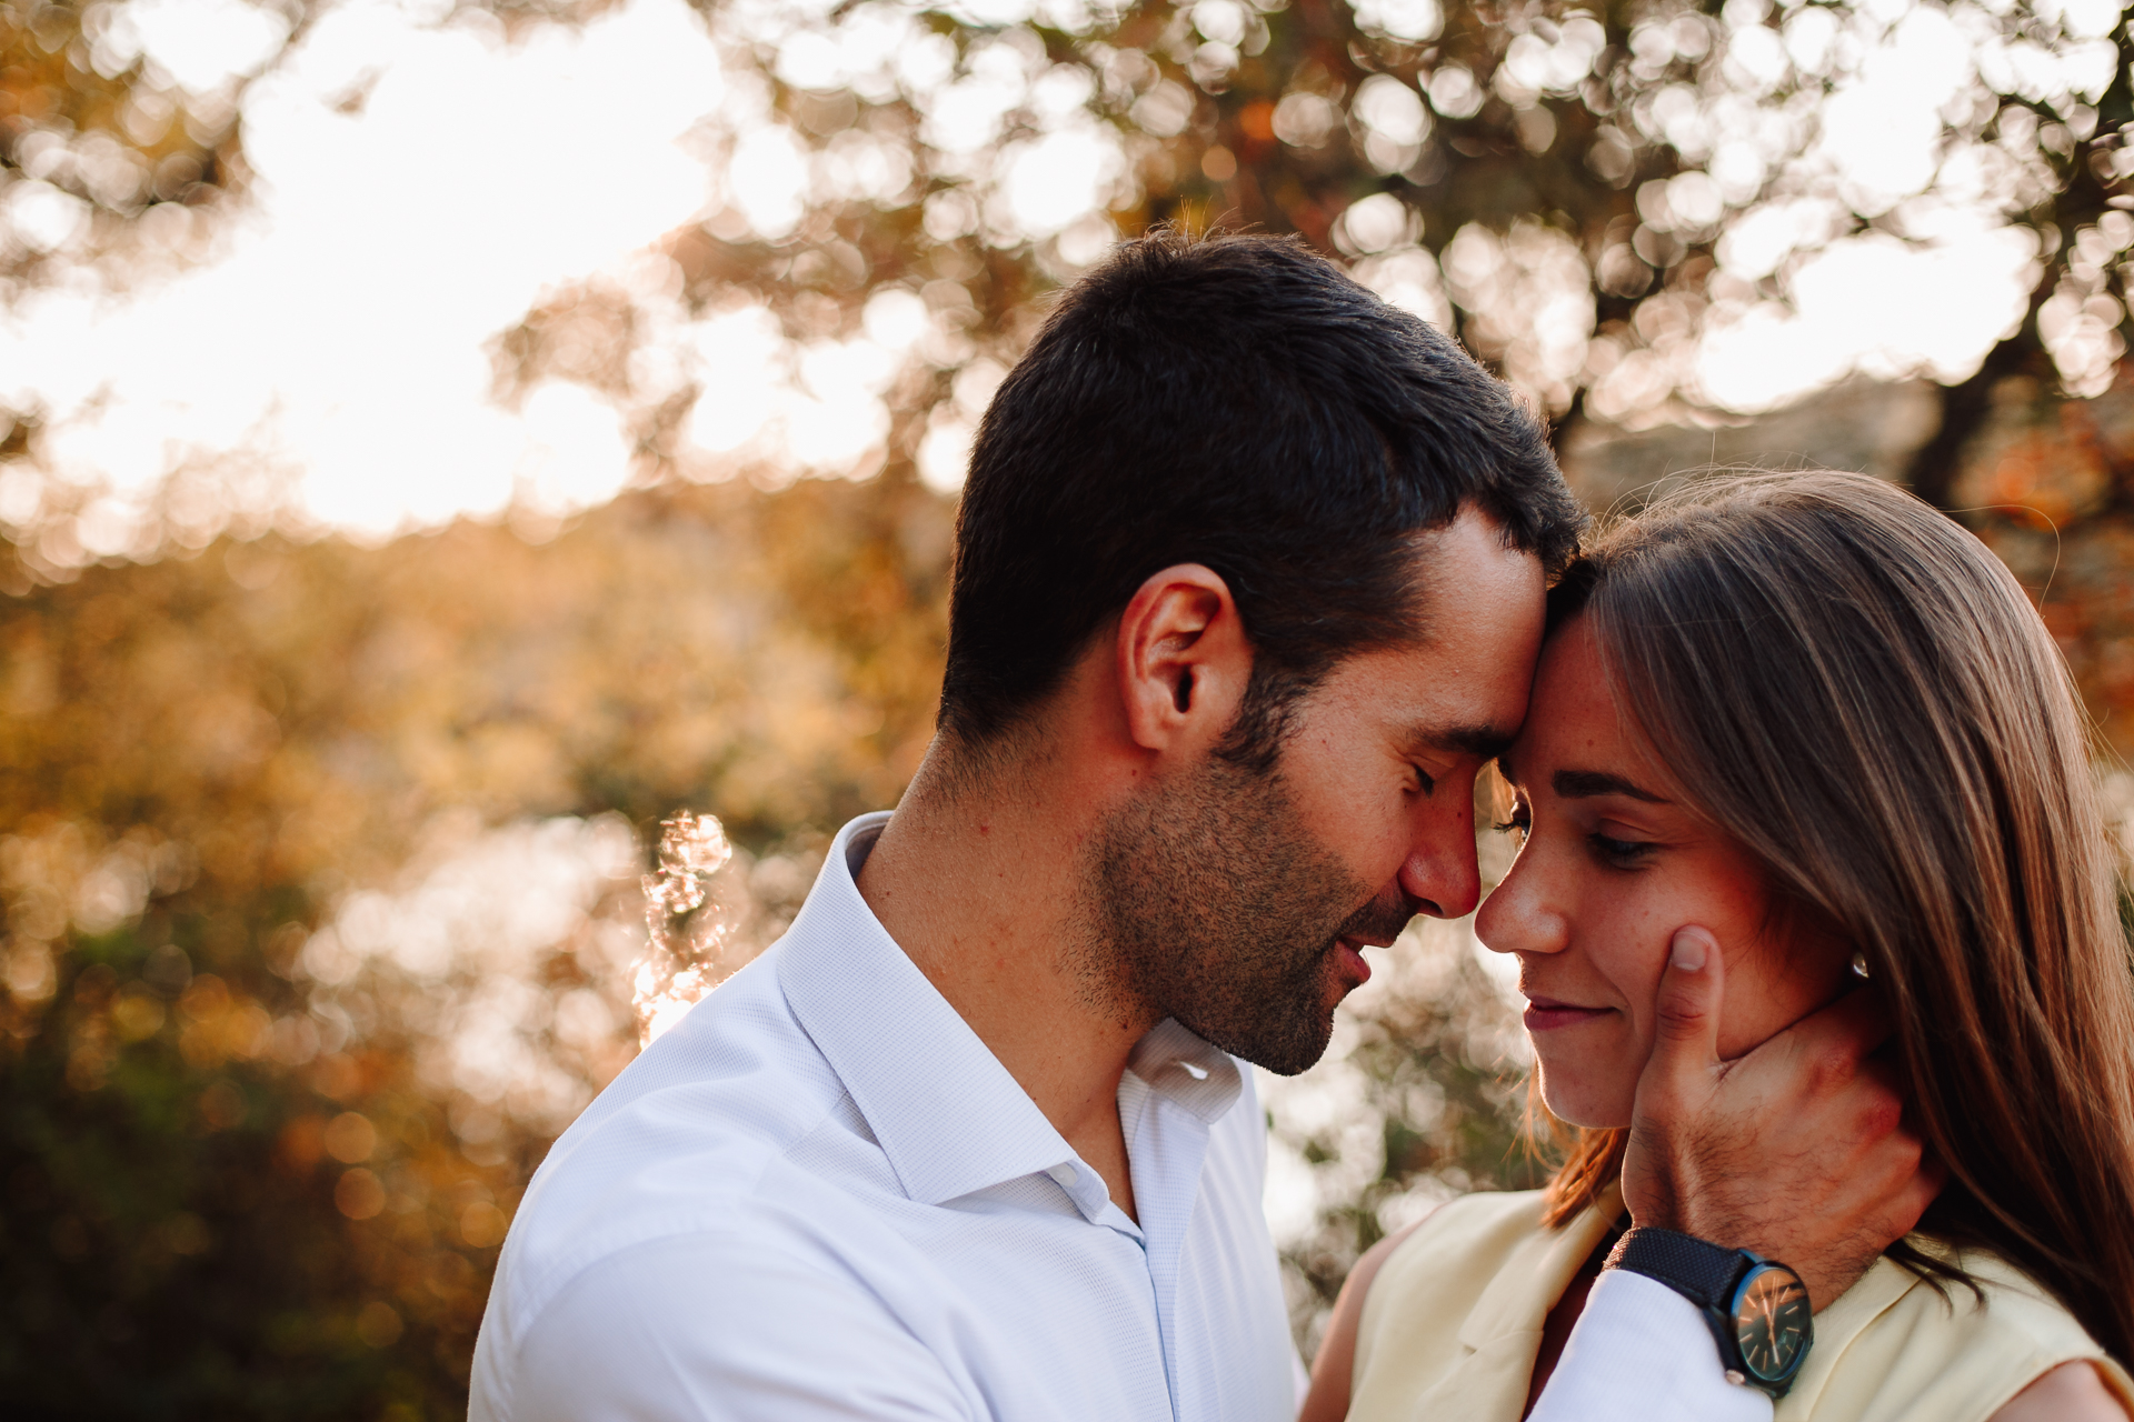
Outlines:
[[[1334,1034],[1336,938],[1389,938],[1408,917],[1310,838],[1280,767],[1216,757],[1099,825],[1084,893],[1078,970],[1099,1011],[1176,1017],[1283,1077]]]

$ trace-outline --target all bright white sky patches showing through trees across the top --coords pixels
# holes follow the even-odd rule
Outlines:
[[[292,471],[314,520],[367,537],[491,516],[514,497],[553,512],[585,507],[630,480],[627,411],[570,384],[504,409],[491,401],[484,345],[544,292],[585,277],[657,298],[672,269],[647,260],[647,247],[717,207],[719,143],[706,134],[732,139],[726,196],[758,230],[792,226],[809,168],[792,132],[762,117],[760,96],[721,77],[711,38],[681,0],[627,0],[583,30],[540,30],[516,47],[476,26],[437,26],[444,9],[348,0],[252,90],[245,147],[260,179],[256,203],[211,264],[130,296],[38,292],[0,318],[0,399],[47,411],[60,478],[111,490],[79,524],[90,554],[128,548],[132,497],[166,469],[233,454]],[[1968,81],[1972,60],[1938,9],[1908,13],[1906,0],[1882,9],[1901,23],[1833,104],[1822,143],[1857,181],[1904,192],[1933,175],[1931,113]],[[239,0],[139,0],[132,11],[134,43],[198,92],[260,64],[280,41],[275,21]],[[1204,30],[1229,19],[1225,11]],[[1001,211],[928,209],[928,224],[1082,230],[1086,245],[1086,224],[1099,222],[1101,239],[1093,213],[1120,162],[1116,143],[1082,115],[1086,87],[1005,45],[945,83],[943,72],[926,75],[937,60],[913,34],[871,43],[898,47],[907,87],[941,85],[928,117],[941,147],[980,147],[1020,102],[1050,115],[1048,132],[1003,156]],[[805,77],[847,60],[790,45],[781,64]],[[365,83],[359,109],[335,109]],[[1428,130],[1417,104],[1385,109],[1417,134]],[[903,177],[860,143],[815,168],[815,181],[854,192],[894,190]],[[45,220],[64,230],[64,203],[41,188],[17,183],[13,200],[21,211],[43,203]],[[1673,196],[1684,207],[1701,194]],[[1385,241],[1398,243],[1391,217]],[[1773,209],[1731,239],[1729,260],[1761,275],[1758,264],[1814,247],[1822,220],[1812,205]],[[1361,232],[1366,215],[1353,226]],[[1754,409],[1852,369],[1961,375],[2021,311],[2036,254],[1961,205],[1921,209],[1910,228],[1931,241],[1869,237],[1814,254],[1795,275],[1793,309],[1737,303],[1703,350],[1677,356],[1688,369],[1673,379]],[[1445,281],[1455,294],[1468,290],[1460,281],[1547,288],[1562,254],[1522,241],[1490,247],[1477,237],[1460,254],[1464,266],[1447,256]],[[1381,286],[1443,311],[1428,254],[1370,260]],[[1560,292],[1549,301],[1564,330],[1530,356],[1536,369],[1568,375],[1586,358],[1577,303],[1564,305]],[[704,384],[687,433],[706,471],[719,454],[745,452],[864,473],[888,429],[881,392],[901,365],[969,358],[935,350],[941,330],[909,292],[879,296],[866,316],[856,341],[796,348],[758,309],[706,322],[676,311],[653,333],[644,386]],[[1611,386],[1622,401],[1637,397],[1633,375],[1624,367]],[[969,418],[997,379],[999,369],[980,362],[960,382],[958,414],[922,460],[939,486],[960,478]],[[28,478],[0,478],[0,518],[34,501]]]

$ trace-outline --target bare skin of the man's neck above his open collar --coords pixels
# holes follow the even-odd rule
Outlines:
[[[958,776],[943,759],[937,742],[860,895],[1133,1215],[1118,1081],[1154,1023],[1105,1011],[1086,976],[1078,893],[1095,808],[1044,765]]]

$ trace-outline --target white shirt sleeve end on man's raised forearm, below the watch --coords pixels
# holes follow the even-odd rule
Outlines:
[[[1607,1269],[1530,1422],[1771,1422],[1771,1411],[1765,1392],[1726,1381],[1694,1303]]]

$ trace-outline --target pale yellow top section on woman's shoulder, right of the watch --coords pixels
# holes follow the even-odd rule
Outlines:
[[[2134,1381],[2059,1300],[2006,1260],[1923,1251],[1961,1269],[1961,1281],[1925,1279],[1880,1260],[1816,1315],[1816,1343],[1780,1422],[1876,1422],[1936,1416],[1985,1420],[2061,1362],[2098,1364],[2106,1388],[2134,1407]]]

